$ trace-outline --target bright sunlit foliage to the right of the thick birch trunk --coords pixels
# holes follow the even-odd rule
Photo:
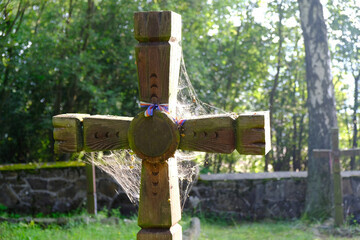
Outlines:
[[[336,104],[340,126],[340,147],[356,148],[360,138],[358,130],[359,84],[360,84],[360,7],[356,1],[329,1],[329,34],[333,39],[331,46]],[[350,87],[351,86],[351,87]],[[346,169],[355,170],[359,160],[344,159]]]

